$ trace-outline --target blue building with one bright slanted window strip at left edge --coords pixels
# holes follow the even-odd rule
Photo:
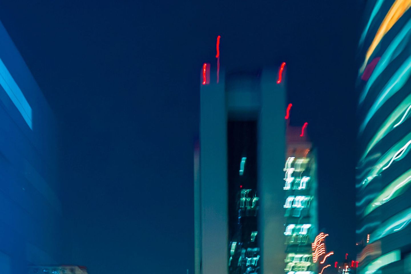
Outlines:
[[[0,273],[27,273],[62,252],[55,120],[0,23]]]

